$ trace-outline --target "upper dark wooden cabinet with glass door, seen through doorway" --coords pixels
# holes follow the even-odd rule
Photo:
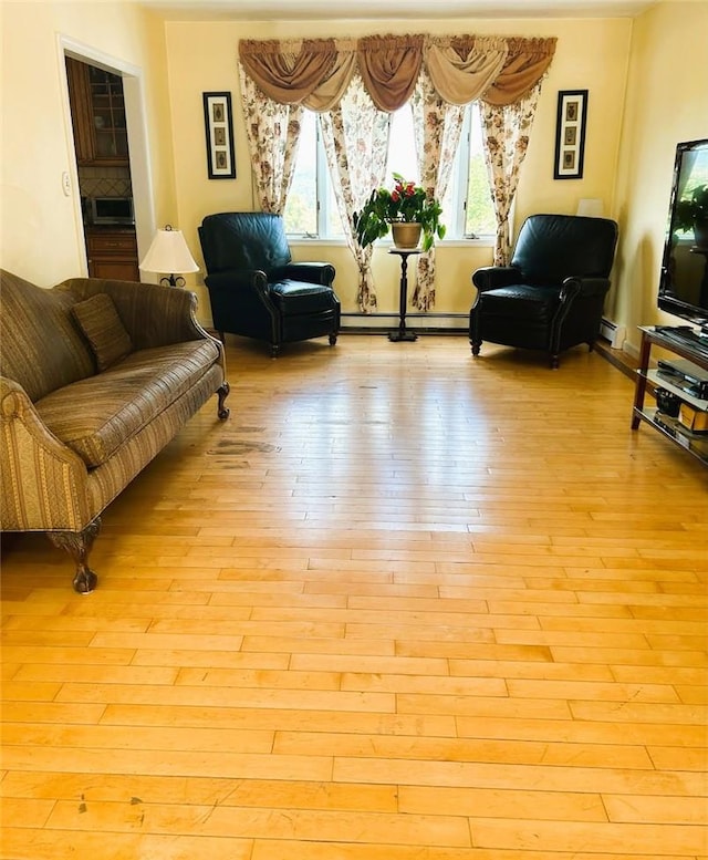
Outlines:
[[[126,166],[128,135],[123,80],[103,69],[66,58],[76,162]]]

